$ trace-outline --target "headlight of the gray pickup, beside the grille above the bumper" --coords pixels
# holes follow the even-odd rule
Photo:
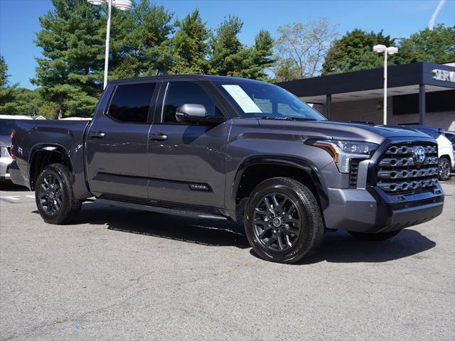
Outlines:
[[[341,173],[349,173],[350,160],[353,158],[370,158],[378,144],[370,142],[358,141],[342,141],[342,140],[316,140],[309,142],[311,146],[323,148],[331,153],[333,162],[336,163],[338,171]]]

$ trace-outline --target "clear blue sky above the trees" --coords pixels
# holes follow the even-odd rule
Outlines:
[[[312,1],[154,1],[182,18],[193,9],[200,13],[210,28],[215,28],[229,14],[244,21],[240,39],[254,41],[257,31],[267,28],[276,36],[276,28],[284,23],[305,22],[326,17],[338,25],[343,34],[353,28],[365,31],[384,30],[394,38],[410,36],[425,28],[439,0],[312,0]],[[38,16],[52,9],[50,0],[0,0],[0,53],[9,65],[11,82],[33,87],[29,79],[35,75],[35,57],[41,50],[33,43],[40,30]],[[446,0],[436,23],[455,25],[455,0]]]

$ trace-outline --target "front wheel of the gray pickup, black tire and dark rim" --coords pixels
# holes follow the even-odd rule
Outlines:
[[[296,263],[316,253],[323,242],[318,202],[311,190],[291,178],[257,185],[247,201],[244,222],[248,242],[267,261]]]

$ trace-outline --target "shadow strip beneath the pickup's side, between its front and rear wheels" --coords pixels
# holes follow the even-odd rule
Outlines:
[[[242,224],[84,204],[72,224],[107,224],[107,229],[218,247],[250,247]]]

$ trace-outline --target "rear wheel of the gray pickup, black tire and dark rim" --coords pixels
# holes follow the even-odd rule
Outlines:
[[[36,206],[48,224],[66,224],[77,215],[82,201],[73,193],[73,174],[60,163],[46,166],[36,180]]]

